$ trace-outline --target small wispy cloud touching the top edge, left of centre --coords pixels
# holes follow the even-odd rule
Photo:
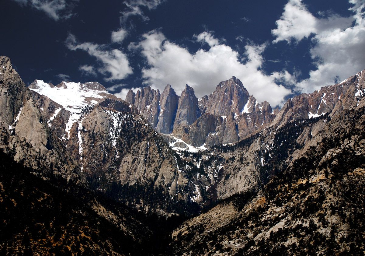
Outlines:
[[[144,21],[150,20],[142,11],[142,7],[149,10],[157,8],[163,0],[127,0],[124,4],[127,6],[127,10],[121,12],[122,17],[120,20],[126,22],[130,16],[141,16]]]

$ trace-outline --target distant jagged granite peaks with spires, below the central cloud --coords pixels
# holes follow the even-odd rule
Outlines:
[[[169,134],[165,138],[170,144],[176,139],[183,140],[185,146],[181,145],[181,149],[191,146],[197,150],[210,149],[237,142],[268,125],[276,116],[268,102],[258,103],[236,77],[219,83],[211,95],[200,99],[189,85],[178,97],[168,84],[161,101],[146,91],[157,93],[150,87],[135,95],[129,91],[126,101],[135,104],[156,131]]]

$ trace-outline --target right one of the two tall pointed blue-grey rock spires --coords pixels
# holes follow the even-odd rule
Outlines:
[[[195,97],[194,89],[185,85],[181,93],[176,111],[176,118],[173,129],[181,126],[189,126],[199,117],[198,99]]]

